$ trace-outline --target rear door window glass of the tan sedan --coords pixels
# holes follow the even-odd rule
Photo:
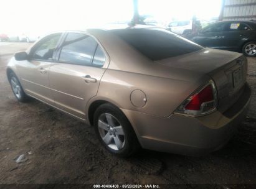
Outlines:
[[[96,40],[90,35],[69,33],[62,44],[59,61],[99,66],[105,62],[105,55]]]

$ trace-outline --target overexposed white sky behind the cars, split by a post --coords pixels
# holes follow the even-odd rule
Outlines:
[[[221,0],[138,0],[139,13],[161,21],[219,16]],[[0,33],[45,33],[129,21],[133,0],[1,0]]]

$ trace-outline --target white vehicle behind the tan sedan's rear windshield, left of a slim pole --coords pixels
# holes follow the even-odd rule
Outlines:
[[[172,32],[182,35],[186,30],[192,30],[192,20],[191,21],[173,21],[169,25]]]

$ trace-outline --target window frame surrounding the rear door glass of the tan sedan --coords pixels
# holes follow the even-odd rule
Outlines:
[[[65,39],[67,38],[67,35],[70,34],[70,33],[75,33],[75,34],[84,34],[84,35],[88,35],[89,37],[92,37],[96,42],[97,42],[97,45],[96,45],[96,48],[94,50],[94,53],[93,53],[93,56],[92,56],[92,60],[90,62],[90,64],[80,64],[80,63],[69,63],[69,62],[63,62],[63,61],[60,61],[60,52],[62,50],[62,44],[64,44],[65,42]],[[97,50],[97,47],[98,45],[100,45],[100,48],[102,48],[102,51],[105,55],[105,62],[103,63],[102,66],[99,66],[99,65],[93,65],[93,59],[94,59],[94,56],[95,56],[95,53],[96,53],[96,50]],[[80,66],[84,66],[84,67],[96,67],[96,68],[107,68],[108,67],[108,64],[110,62],[110,58],[108,56],[108,53],[107,51],[105,50],[105,48],[103,47],[103,45],[100,43],[100,41],[92,34],[88,33],[88,32],[82,32],[82,31],[76,31],[76,30],[70,30],[70,31],[67,31],[65,32],[64,36],[63,36],[63,40],[60,42],[60,44],[57,46],[56,48],[56,55],[55,55],[55,62],[57,63],[67,63],[67,64],[70,64],[70,65],[80,65]]]

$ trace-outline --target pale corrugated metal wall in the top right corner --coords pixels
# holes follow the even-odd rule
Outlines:
[[[256,0],[222,0],[222,21],[256,21]]]

